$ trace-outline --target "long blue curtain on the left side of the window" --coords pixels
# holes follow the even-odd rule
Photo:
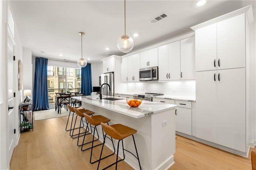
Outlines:
[[[48,59],[36,57],[33,88],[34,111],[49,109],[47,63]]]

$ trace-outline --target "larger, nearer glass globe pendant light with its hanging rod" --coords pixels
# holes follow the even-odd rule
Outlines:
[[[125,15],[125,0],[124,0],[124,35],[122,35],[117,41],[117,47],[123,53],[128,53],[132,50],[134,42],[132,37],[126,35],[126,15]]]

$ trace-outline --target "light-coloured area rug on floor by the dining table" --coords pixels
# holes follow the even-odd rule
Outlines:
[[[61,114],[58,114],[55,109],[34,111],[34,120],[52,119],[55,117],[68,116],[68,114],[69,111],[66,111],[64,108],[61,109]]]

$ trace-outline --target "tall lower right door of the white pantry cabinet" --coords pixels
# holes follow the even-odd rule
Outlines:
[[[246,152],[245,68],[218,70],[218,74],[218,144]]]

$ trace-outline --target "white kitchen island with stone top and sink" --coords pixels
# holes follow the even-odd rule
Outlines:
[[[175,107],[172,104],[143,101],[139,107],[130,107],[125,98],[98,95],[72,97],[82,102],[82,107],[94,111],[96,115],[108,117],[111,124],[121,123],[138,132],[134,135],[142,169],[167,169],[174,164],[175,153]],[[104,98],[120,99],[115,101]],[[98,128],[100,141],[102,129]],[[114,140],[115,146],[117,141]],[[112,149],[108,140],[106,145]],[[124,139],[124,148],[135,154],[132,137]],[[120,156],[123,157],[120,147]],[[134,169],[139,169],[138,160],[125,152],[125,161]]]

